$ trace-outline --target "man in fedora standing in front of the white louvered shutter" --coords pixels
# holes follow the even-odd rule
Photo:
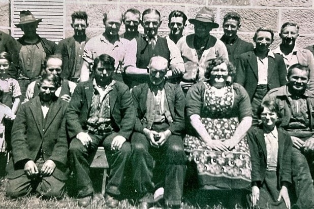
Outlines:
[[[27,86],[39,78],[45,57],[54,54],[56,49],[54,42],[38,36],[36,29],[41,21],[42,19],[35,18],[29,10],[24,10],[20,12],[20,22],[15,24],[24,32],[24,36],[17,40],[21,44],[18,50],[21,100],[24,100]]]

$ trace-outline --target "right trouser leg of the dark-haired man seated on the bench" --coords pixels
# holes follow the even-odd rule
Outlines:
[[[106,192],[118,196],[120,195],[120,187],[124,177],[124,168],[129,163],[131,156],[131,145],[129,142],[125,142],[120,150],[111,150],[111,143],[118,133],[112,133],[108,135],[103,142],[105,148],[107,160],[110,166],[110,175],[108,177],[108,183],[106,185]]]

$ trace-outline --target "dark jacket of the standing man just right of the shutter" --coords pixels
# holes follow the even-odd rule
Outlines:
[[[86,37],[85,43],[89,40],[89,38]],[[69,37],[65,40],[61,40],[59,44],[57,45],[55,54],[61,54],[63,59],[63,65],[62,65],[62,73],[61,77],[64,79],[71,80],[71,76],[73,72],[75,71],[75,60],[80,57],[75,57],[75,39],[74,37]]]

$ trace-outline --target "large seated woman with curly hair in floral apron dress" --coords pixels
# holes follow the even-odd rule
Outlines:
[[[191,127],[185,151],[195,161],[201,187],[250,188],[250,155],[246,132],[252,108],[245,89],[233,83],[234,66],[222,58],[210,60],[206,80],[187,92],[186,116]]]

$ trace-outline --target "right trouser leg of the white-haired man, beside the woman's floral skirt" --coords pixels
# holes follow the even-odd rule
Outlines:
[[[182,138],[171,135],[161,149],[161,160],[165,164],[165,202],[178,205],[181,203],[186,171],[186,155]]]

